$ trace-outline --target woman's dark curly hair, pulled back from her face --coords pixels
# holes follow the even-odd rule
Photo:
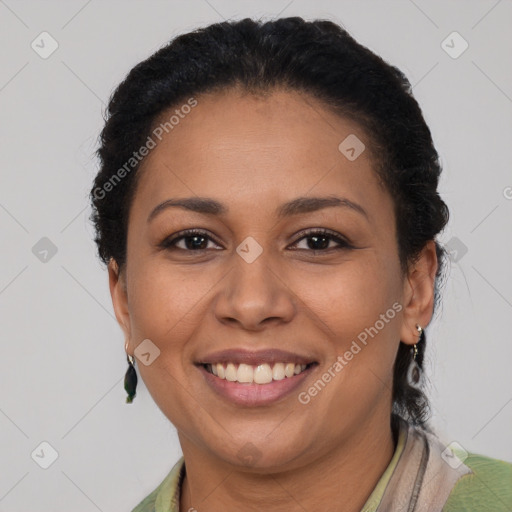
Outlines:
[[[157,120],[171,107],[190,103],[192,95],[235,87],[252,94],[275,88],[305,92],[365,130],[375,172],[394,201],[405,276],[449,219],[437,192],[441,165],[430,130],[399,69],[337,24],[300,17],[212,24],[176,37],[129,72],[107,108],[97,151],[101,167],[90,192],[101,260],[112,258],[121,270],[125,265],[128,212],[140,174],[133,152],[149,140]],[[127,169],[128,161],[133,169]],[[445,249],[435,244],[434,311],[446,258]],[[425,345],[423,331],[417,345],[420,368]],[[401,342],[394,365],[394,430],[400,416],[429,428],[428,399],[407,379],[411,359],[411,348]]]

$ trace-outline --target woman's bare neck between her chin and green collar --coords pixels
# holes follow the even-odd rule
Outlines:
[[[359,512],[389,465],[395,441],[388,418],[359,428],[308,464],[266,474],[240,471],[179,434],[186,461],[180,510]]]

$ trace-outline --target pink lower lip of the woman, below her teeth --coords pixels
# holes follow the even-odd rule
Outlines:
[[[316,364],[313,364],[298,375],[285,377],[282,380],[273,380],[268,384],[231,382],[210,373],[204,366],[200,365],[197,368],[203,374],[208,385],[217,394],[234,404],[255,407],[272,404],[292,393],[304,382],[304,379],[309,376],[316,366]]]

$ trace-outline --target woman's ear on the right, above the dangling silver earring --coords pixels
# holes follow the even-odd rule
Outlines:
[[[438,262],[434,240],[429,240],[404,282],[404,314],[400,340],[414,345],[419,340],[416,324],[423,329],[434,311],[434,285]]]

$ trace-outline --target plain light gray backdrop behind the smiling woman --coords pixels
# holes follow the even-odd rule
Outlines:
[[[427,329],[433,423],[447,444],[512,460],[509,0],[5,0],[0,511],[131,510],[180,456],[141,380],[125,403],[124,339],[88,222],[102,110],[131,67],[171,37],[222,19],[292,15],[343,24],[414,86],[451,211],[440,238],[452,250],[450,275]],[[59,45],[47,59],[31,47],[43,31]],[[458,58],[442,46],[453,31],[469,44]],[[460,43],[445,44],[453,53]],[[43,237],[55,254],[41,252]],[[47,469],[43,441],[58,454]]]

